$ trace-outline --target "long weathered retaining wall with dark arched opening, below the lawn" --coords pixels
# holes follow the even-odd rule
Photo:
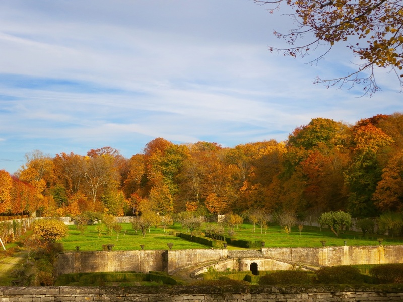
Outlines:
[[[195,249],[140,250],[61,253],[55,274],[101,271],[165,271],[203,264],[217,270],[249,270],[256,262],[259,270],[288,269],[294,263],[314,266],[403,263],[403,246],[342,246],[324,248],[262,248],[262,250]],[[240,259],[238,261],[238,259]],[[221,262],[223,260],[228,260]],[[274,261],[275,260],[275,261]],[[220,265],[218,265],[220,262]],[[283,264],[281,264],[284,262]],[[208,267],[208,266],[206,266]]]

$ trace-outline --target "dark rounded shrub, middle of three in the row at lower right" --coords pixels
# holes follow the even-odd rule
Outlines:
[[[352,266],[322,267],[316,271],[316,282],[320,284],[361,284],[364,276]]]

